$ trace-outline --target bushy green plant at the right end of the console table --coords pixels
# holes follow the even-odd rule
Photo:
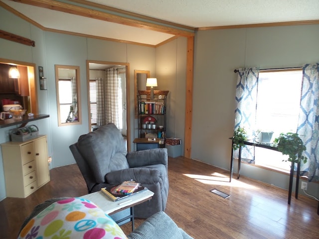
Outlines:
[[[301,160],[304,163],[307,162],[307,157],[302,155],[306,146],[298,133],[281,133],[279,137],[275,138],[274,146],[278,148],[279,152],[288,155],[290,162],[299,163]]]

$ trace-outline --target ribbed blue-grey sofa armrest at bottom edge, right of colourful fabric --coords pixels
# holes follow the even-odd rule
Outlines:
[[[193,239],[171,220],[164,212],[158,212],[148,218],[128,239]]]

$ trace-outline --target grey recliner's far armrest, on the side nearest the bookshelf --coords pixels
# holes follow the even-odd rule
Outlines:
[[[132,151],[128,152],[126,158],[131,168],[161,163],[167,169],[168,165],[167,148]]]

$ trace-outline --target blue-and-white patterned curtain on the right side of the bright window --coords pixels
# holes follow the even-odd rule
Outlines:
[[[303,68],[303,85],[297,133],[306,145],[307,163],[301,162],[301,175],[319,181],[319,63]]]

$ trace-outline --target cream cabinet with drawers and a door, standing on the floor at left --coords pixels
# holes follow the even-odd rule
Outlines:
[[[1,148],[7,197],[25,198],[50,181],[46,135]]]

